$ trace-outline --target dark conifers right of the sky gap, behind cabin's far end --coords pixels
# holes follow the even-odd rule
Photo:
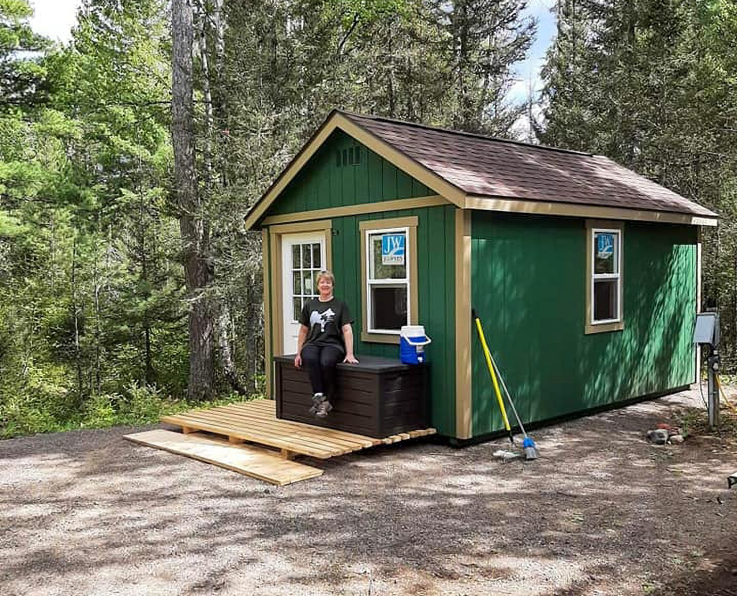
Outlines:
[[[737,367],[737,9],[712,0],[559,0],[543,143],[600,153],[709,207],[703,295]]]

